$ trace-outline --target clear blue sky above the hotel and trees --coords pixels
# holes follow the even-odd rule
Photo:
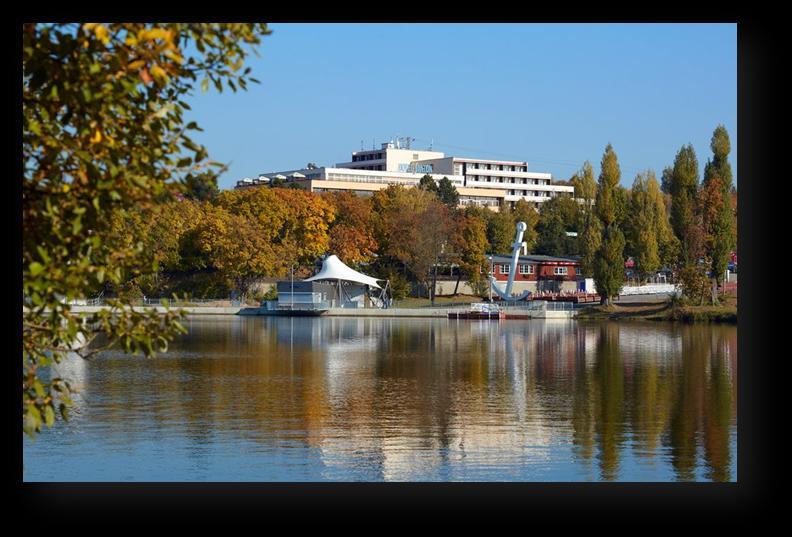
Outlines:
[[[737,170],[736,24],[271,24],[247,92],[197,89],[190,119],[221,188],[332,166],[399,136],[446,155],[525,160],[568,179],[659,176],[683,144],[703,170],[720,123]]]

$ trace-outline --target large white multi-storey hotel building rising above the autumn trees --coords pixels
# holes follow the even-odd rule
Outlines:
[[[459,204],[498,210],[523,199],[538,205],[555,196],[573,196],[574,187],[553,184],[549,173],[529,172],[527,162],[446,157],[439,151],[402,147],[387,142],[380,149],[356,151],[351,162],[335,167],[310,167],[263,173],[242,179],[236,188],[267,185],[278,178],[297,182],[311,192],[351,191],[370,195],[389,185],[415,186],[424,175],[447,177],[459,193]]]

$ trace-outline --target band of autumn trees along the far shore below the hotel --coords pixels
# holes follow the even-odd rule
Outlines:
[[[389,279],[396,299],[433,299],[438,272],[469,282],[484,296],[486,254],[508,252],[515,224],[523,221],[528,251],[579,256],[604,305],[618,296],[627,258],[642,280],[671,267],[688,307],[717,304],[718,275],[736,246],[737,191],[725,128],[715,129],[711,147],[703,181],[695,151],[686,145],[660,181],[647,170],[628,189],[608,145],[598,180],[585,162],[569,180],[575,197],[551,198],[538,209],[522,200],[498,212],[460,208],[453,185],[438,186],[428,176],[417,188],[390,186],[370,197],[278,186],[188,189],[113,219],[110,238],[119,249],[143,253],[151,266],[130,267],[119,281],[91,292],[260,300],[271,295],[258,281],[307,277],[317,258],[333,253]]]

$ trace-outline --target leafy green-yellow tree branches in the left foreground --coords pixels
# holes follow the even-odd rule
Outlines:
[[[245,89],[244,60],[265,24],[89,23],[22,26],[22,412],[34,435],[67,411],[68,384],[42,375],[101,332],[108,344],[152,355],[182,328],[123,300],[83,318],[69,302],[119,284],[149,254],[108,240],[112,222],[183,190],[211,171],[189,131],[184,98],[200,81]],[[206,176],[204,176],[205,178]],[[96,327],[90,330],[85,327]],[[82,343],[86,344],[82,344]]]

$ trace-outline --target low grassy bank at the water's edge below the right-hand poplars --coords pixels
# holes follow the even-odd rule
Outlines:
[[[614,304],[611,306],[589,306],[578,315],[581,320],[635,320],[635,321],[678,321],[686,323],[737,323],[737,297],[721,298],[717,306],[678,305],[669,302]]]

